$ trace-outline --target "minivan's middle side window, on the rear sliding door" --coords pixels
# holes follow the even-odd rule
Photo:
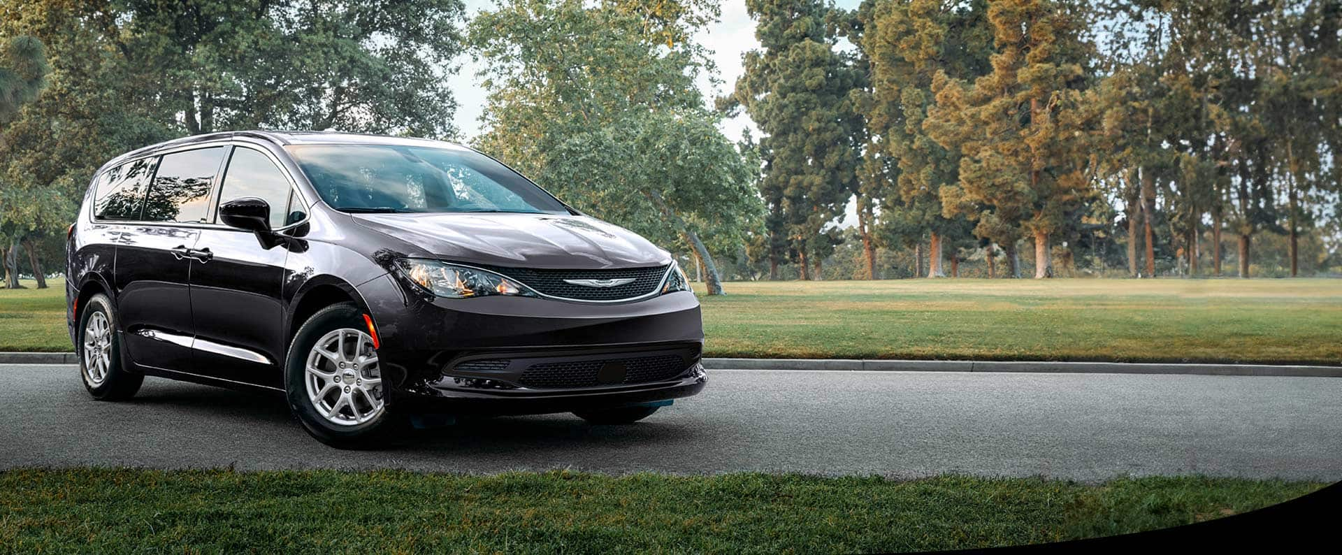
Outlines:
[[[209,216],[209,192],[225,147],[164,154],[145,197],[144,220],[199,223]]]

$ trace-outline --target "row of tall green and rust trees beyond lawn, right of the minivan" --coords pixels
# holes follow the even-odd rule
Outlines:
[[[719,107],[765,134],[766,229],[737,278],[1342,265],[1337,0],[746,5]]]

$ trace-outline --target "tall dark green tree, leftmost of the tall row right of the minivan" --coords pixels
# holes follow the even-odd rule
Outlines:
[[[797,255],[801,278],[832,248],[819,237],[858,192],[862,133],[851,91],[862,86],[854,62],[836,52],[839,16],[820,0],[747,0],[761,50],[746,52],[745,74],[719,99],[743,107],[760,139],[769,232]],[[828,245],[828,247],[827,247]],[[782,252],[772,252],[781,257]]]

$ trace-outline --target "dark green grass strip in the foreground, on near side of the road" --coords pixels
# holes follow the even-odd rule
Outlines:
[[[1252,511],[1323,484],[960,476],[0,472],[5,551],[872,552],[1056,542]]]

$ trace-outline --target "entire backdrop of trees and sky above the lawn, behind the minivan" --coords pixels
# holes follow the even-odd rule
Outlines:
[[[3,9],[8,287],[59,272],[103,161],[255,127],[470,143],[709,292],[1342,265],[1337,1]]]

